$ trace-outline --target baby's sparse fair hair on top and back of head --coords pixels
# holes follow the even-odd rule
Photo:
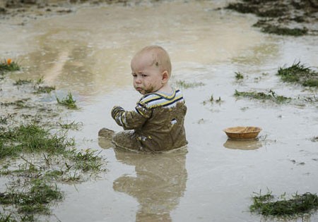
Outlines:
[[[169,76],[171,75],[172,66],[171,66],[170,56],[167,53],[167,51],[163,49],[163,47],[159,47],[155,45],[144,47],[136,55],[140,55],[146,52],[152,53],[153,63],[151,64],[151,66],[155,65],[158,68],[160,68],[160,71],[162,72],[167,71],[168,75]]]

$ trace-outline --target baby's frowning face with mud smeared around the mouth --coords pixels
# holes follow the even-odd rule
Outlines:
[[[134,88],[141,94],[157,92],[163,87],[163,73],[153,64],[151,56],[142,54],[131,61]]]

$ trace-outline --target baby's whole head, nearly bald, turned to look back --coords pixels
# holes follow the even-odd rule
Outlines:
[[[150,92],[170,92],[167,82],[171,75],[171,62],[162,47],[144,47],[131,59],[134,87],[141,94]]]

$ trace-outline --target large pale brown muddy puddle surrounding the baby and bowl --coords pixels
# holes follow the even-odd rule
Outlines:
[[[1,23],[1,56],[24,67],[10,78],[37,79],[72,92],[78,111],[69,121],[79,147],[102,150],[107,173],[66,192],[49,221],[264,221],[249,213],[253,192],[318,192],[317,90],[282,83],[278,67],[294,61],[318,68],[317,36],[276,37],[251,27],[257,18],[216,10],[225,1],[171,1],[136,6],[76,8],[66,16],[24,26]],[[2,32],[4,30],[4,32]],[[121,130],[110,109],[134,109],[134,52],[160,44],[170,52],[172,83],[204,82],[184,89],[188,152],[139,155],[98,140],[102,127]],[[244,80],[237,82],[235,72]],[[23,76],[22,76],[23,75]],[[235,90],[273,90],[288,104],[233,97]],[[208,101],[220,97],[221,102]],[[298,99],[299,97],[299,99]],[[235,143],[222,131],[256,125],[259,140]],[[318,221],[314,214],[307,221]],[[269,220],[271,221],[271,220]],[[301,219],[298,219],[301,221]]]

